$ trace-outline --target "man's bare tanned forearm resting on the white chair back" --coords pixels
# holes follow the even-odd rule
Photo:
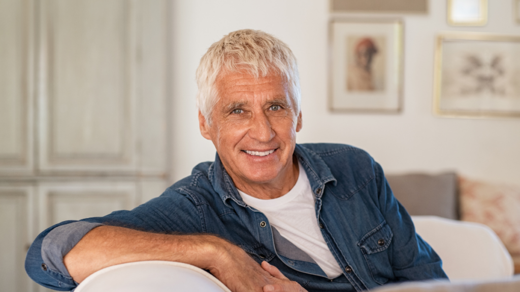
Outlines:
[[[90,230],[63,258],[74,281],[115,264],[166,260],[213,269],[232,245],[213,235],[171,235],[100,226]]]

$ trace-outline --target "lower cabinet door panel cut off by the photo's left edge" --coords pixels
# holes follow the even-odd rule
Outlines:
[[[0,292],[25,292],[30,280],[24,270],[28,245],[28,193],[0,188]]]

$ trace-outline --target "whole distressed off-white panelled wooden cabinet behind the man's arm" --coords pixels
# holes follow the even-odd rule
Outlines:
[[[50,225],[170,183],[166,0],[0,0],[0,292]]]

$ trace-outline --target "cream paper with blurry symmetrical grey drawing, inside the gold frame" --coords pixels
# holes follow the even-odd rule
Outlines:
[[[497,57],[501,65],[493,69]],[[462,73],[469,58],[482,63],[471,75]],[[520,113],[520,43],[448,40],[442,68],[441,111]]]

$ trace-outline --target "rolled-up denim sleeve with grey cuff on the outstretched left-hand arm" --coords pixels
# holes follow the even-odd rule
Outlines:
[[[111,225],[157,233],[200,233],[202,220],[197,206],[188,197],[168,189],[162,196],[130,211],[114,211],[104,217],[64,221],[49,227],[31,244],[25,257],[25,271],[44,287],[70,291],[78,283],[69,274],[63,257],[90,230]]]

